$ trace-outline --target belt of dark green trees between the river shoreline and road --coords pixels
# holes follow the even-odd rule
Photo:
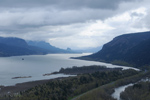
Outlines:
[[[118,79],[124,80],[124,78],[137,75],[138,73],[139,72],[132,69],[113,70],[55,79],[18,94],[2,96],[0,100],[67,100],[105,84],[114,84],[113,82]],[[113,91],[113,89],[111,90]],[[101,91],[101,93],[105,94],[103,90]],[[112,93],[112,91],[110,93]],[[104,95],[102,98],[101,100],[112,99],[110,96],[108,97],[108,95]]]

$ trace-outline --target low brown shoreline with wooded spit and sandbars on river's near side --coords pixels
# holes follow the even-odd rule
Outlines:
[[[119,70],[122,70],[122,68],[107,68],[106,66],[97,66],[97,65],[82,66],[82,67],[74,66],[72,68],[65,68],[65,69],[61,68],[59,72],[47,73],[47,74],[43,74],[43,76],[48,76],[48,75],[52,75],[52,74],[60,74],[60,73],[70,75],[70,76],[17,83],[13,86],[0,86],[0,96],[2,96],[2,95],[11,95],[11,94],[14,94],[14,93],[18,93],[20,91],[25,91],[27,89],[30,89],[30,88],[38,86],[38,85],[42,85],[42,84],[47,83],[47,82],[52,81],[52,80],[59,80],[59,79],[74,77],[74,75],[76,76],[76,75],[80,75],[80,74],[94,73],[94,72],[97,72],[97,71],[98,72],[103,72],[103,71],[104,72],[107,72],[107,71],[109,72],[109,71],[115,71],[115,70],[119,71]],[[26,78],[26,77],[25,76],[24,77],[14,77],[14,79]]]

